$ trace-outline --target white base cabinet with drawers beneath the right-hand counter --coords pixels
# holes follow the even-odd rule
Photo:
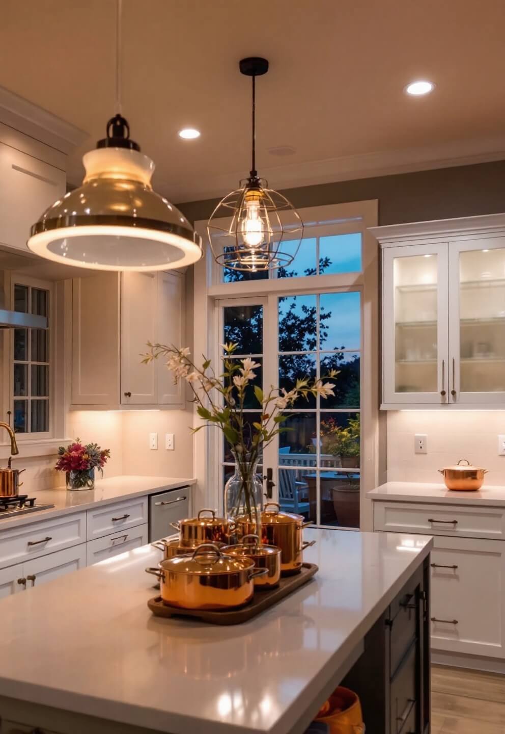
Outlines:
[[[434,537],[432,650],[504,660],[504,509],[416,499],[374,501],[374,529]]]

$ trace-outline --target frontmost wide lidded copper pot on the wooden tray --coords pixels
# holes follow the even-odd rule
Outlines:
[[[254,578],[267,573],[249,558],[225,556],[212,543],[203,543],[184,556],[147,568],[160,579],[161,598],[182,609],[233,609],[247,604]]]

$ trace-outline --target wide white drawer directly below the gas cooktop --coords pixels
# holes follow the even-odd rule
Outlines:
[[[0,568],[86,542],[86,513],[0,530]]]

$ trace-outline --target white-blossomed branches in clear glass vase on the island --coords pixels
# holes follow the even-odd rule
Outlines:
[[[259,527],[257,513],[258,504],[261,507],[262,503],[261,484],[259,490],[254,489],[254,474],[262,448],[268,446],[280,433],[290,430],[282,426],[288,417],[282,411],[292,407],[300,397],[307,399],[309,394],[322,398],[333,395],[335,385],[323,382],[322,379],[309,381],[308,378],[303,378],[297,380],[292,390],[270,386],[268,392],[264,393],[258,385],[253,384],[256,377],[254,370],[259,364],[250,357],[234,357],[237,344],[222,345],[224,360],[221,374],[215,374],[211,360],[205,357],[202,367],[196,367],[187,347],[177,349],[174,346],[150,343],[147,346],[150,351],[143,355],[144,363],[164,357],[166,366],[174,374],[174,382],[184,379],[190,385],[196,412],[206,421],[202,426],[193,429],[193,432],[206,425],[216,426],[232,448],[236,463],[237,490],[233,498],[228,498],[229,501],[225,497],[227,514],[232,517],[246,514],[248,520]],[[336,377],[337,374],[337,371],[332,370],[328,377]],[[246,391],[251,387],[261,411],[258,421],[252,424],[248,423],[247,414],[244,413]]]

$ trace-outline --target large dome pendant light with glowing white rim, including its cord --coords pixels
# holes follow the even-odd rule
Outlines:
[[[120,114],[121,2],[117,4],[117,109],[106,138],[83,157],[82,186],[50,206],[32,226],[30,250],[92,270],[169,270],[202,257],[188,219],[152,190],[154,164],[130,139]]]

